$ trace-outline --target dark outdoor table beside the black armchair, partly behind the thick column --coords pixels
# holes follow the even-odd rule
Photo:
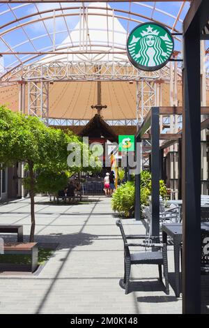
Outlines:
[[[180,244],[182,243],[183,228],[182,223],[168,223],[162,224],[162,241],[167,244],[167,236],[173,239],[173,253],[174,253],[174,271],[175,271],[175,285],[176,297],[180,296]],[[201,223],[201,230],[209,231],[209,222]]]

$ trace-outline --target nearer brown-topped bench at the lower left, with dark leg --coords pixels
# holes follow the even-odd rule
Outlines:
[[[38,243],[5,243],[3,251],[4,254],[31,254],[31,272],[36,271],[38,267]]]

